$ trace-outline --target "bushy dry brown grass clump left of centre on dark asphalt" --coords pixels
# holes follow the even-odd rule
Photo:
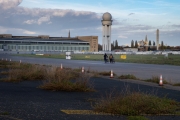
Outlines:
[[[53,91],[94,91],[90,76],[72,69],[51,68],[46,73],[46,81],[39,86],[41,89]]]

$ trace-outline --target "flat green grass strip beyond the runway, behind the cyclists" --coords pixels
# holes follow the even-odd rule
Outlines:
[[[45,54],[45,55],[20,55],[30,57],[43,58],[57,58],[65,59],[65,54]],[[166,64],[166,65],[180,65],[180,55],[126,55],[126,59],[121,59],[121,55],[113,55],[116,62],[126,63],[142,63],[142,64]],[[73,60],[97,60],[103,61],[103,55],[99,54],[72,54]]]

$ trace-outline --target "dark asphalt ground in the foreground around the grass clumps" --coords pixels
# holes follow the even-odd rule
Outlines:
[[[180,102],[180,91],[109,78],[91,78],[97,92],[62,92],[39,89],[42,81],[0,82],[0,120],[126,120],[126,116],[68,115],[61,110],[92,110],[91,102],[127,86]],[[4,115],[7,113],[8,115]],[[146,116],[152,120],[180,120],[180,116]]]

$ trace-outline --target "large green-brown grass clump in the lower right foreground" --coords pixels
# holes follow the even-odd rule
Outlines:
[[[180,103],[175,100],[141,92],[109,94],[94,105],[96,112],[128,116],[176,114],[178,110],[180,110]]]

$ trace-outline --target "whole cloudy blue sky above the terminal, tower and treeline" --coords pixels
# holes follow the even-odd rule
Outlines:
[[[0,34],[98,36],[102,15],[112,15],[111,42],[159,41],[180,46],[180,0],[0,0]]]

